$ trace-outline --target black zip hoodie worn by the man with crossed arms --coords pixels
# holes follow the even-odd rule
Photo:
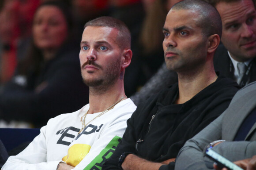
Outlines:
[[[153,162],[176,158],[184,143],[216,119],[230,104],[240,87],[230,78],[221,76],[184,104],[174,104],[178,83],[151,96],[138,105],[123,140],[103,166],[120,169],[118,159],[124,152]],[[160,170],[174,169],[174,162]]]

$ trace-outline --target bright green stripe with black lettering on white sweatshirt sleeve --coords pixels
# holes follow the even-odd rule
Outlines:
[[[109,144],[102,149],[102,152],[100,152],[83,170],[101,170],[103,163],[113,154],[121,140],[121,137],[113,137]]]

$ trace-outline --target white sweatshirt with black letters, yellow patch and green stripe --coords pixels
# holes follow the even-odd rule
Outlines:
[[[81,116],[88,109],[89,104],[49,119],[23,152],[8,158],[2,170],[56,170],[62,160],[75,166],[74,170],[101,170],[121,140],[136,105],[128,98],[96,119],[101,112],[87,114],[85,124],[94,120],[78,135]]]

